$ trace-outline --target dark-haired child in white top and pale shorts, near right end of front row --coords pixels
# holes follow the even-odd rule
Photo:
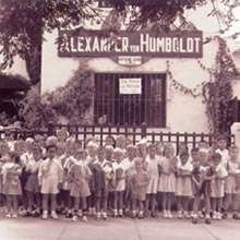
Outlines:
[[[225,179],[227,177],[227,171],[221,165],[221,156],[215,153],[211,156],[212,168],[215,173],[215,178],[211,182],[211,197],[212,197],[212,208],[213,208],[213,219],[221,219],[221,207],[224,199],[224,185]]]

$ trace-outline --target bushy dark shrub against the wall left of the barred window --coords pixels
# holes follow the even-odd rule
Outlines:
[[[60,116],[65,117],[70,123],[85,123],[93,94],[91,72],[80,68],[65,86],[46,93],[43,97],[39,87],[33,87],[21,101],[20,116],[26,129],[46,128],[50,122],[57,123]]]

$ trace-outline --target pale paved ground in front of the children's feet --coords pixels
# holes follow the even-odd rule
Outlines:
[[[239,240],[240,220],[108,218],[87,223],[59,219],[5,218],[0,216],[0,240]]]

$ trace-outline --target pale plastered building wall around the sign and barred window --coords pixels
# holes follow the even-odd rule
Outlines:
[[[187,12],[187,17],[194,22],[200,31],[204,32],[203,41],[216,35],[218,31],[216,19],[207,19],[209,24],[204,21],[208,11],[209,7],[204,7],[200,8],[197,12]],[[96,26],[96,28],[99,28],[99,26]],[[185,87],[194,89],[201,83],[209,81],[209,73],[200,68],[197,59],[152,58],[140,67],[129,68],[119,65],[110,58],[60,58],[58,57],[57,45],[55,45],[57,36],[57,32],[45,36],[47,41],[43,46],[41,93],[51,92],[58,86],[64,86],[73,71],[81,64],[81,61],[87,62],[93,72],[161,73],[167,71],[166,61],[168,60],[173,79]],[[217,40],[214,39],[203,45],[203,58],[200,59],[203,65],[214,68],[217,48]],[[202,103],[203,98],[201,96],[194,98],[191,94],[180,92],[173,88],[171,83],[171,79],[167,75],[167,128],[164,130],[207,133],[208,124],[205,105]],[[239,94],[240,83],[235,81],[235,95]]]

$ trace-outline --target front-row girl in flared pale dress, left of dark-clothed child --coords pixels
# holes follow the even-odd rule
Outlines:
[[[73,220],[77,217],[83,217],[86,221],[86,197],[89,196],[88,181],[92,172],[85,164],[86,152],[84,149],[77,149],[75,153],[75,161],[70,167],[70,196],[74,199],[74,214]],[[80,209],[80,200],[82,200],[82,209]]]

